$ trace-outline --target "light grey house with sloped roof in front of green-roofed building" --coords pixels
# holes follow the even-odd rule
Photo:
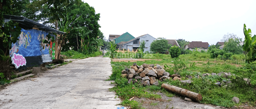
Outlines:
[[[127,41],[127,42],[119,42],[117,44],[117,47],[118,47],[119,50],[123,50],[123,48],[124,48],[124,49],[127,49],[127,50],[129,49],[130,51],[132,51],[132,50],[136,51],[139,48],[140,43],[143,40],[146,42],[145,48],[144,48],[144,52],[145,52],[145,51],[150,51],[150,44],[154,40],[156,40],[156,38],[152,37],[149,34],[145,34],[145,35],[141,35],[139,37],[133,38],[132,40]]]

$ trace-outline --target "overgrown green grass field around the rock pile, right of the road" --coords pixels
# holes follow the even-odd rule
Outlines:
[[[162,55],[162,54],[160,54]],[[159,54],[157,56],[160,57]],[[232,55],[233,58],[240,58],[243,55]],[[209,59],[208,59],[209,58]],[[210,59],[210,54],[208,53],[198,53],[198,54],[189,54],[189,55],[180,55],[178,59],[162,59],[161,61],[156,60],[147,60],[147,61],[137,61],[138,65],[146,64],[159,64],[170,66],[170,69],[166,69],[170,74],[174,74],[173,68],[174,66],[179,67],[176,73],[179,73],[182,76],[182,80],[185,80],[186,75],[191,75],[194,78],[192,79],[194,82],[190,84],[182,84],[180,81],[176,80],[165,80],[159,81],[159,85],[151,85],[147,87],[142,87],[140,84],[127,84],[126,78],[121,78],[121,71],[125,68],[131,66],[134,62],[111,62],[113,67],[113,73],[108,80],[114,80],[115,87],[110,89],[111,91],[115,91],[119,98],[123,99],[121,105],[125,106],[140,106],[140,104],[136,101],[129,101],[128,99],[133,96],[138,97],[146,97],[146,98],[160,98],[160,96],[154,94],[156,92],[165,93],[166,96],[172,97],[174,94],[166,91],[165,89],[161,89],[162,83],[167,83],[170,85],[175,85],[184,89],[188,89],[190,91],[199,93],[202,95],[201,103],[203,104],[213,104],[216,106],[222,107],[232,107],[235,105],[243,105],[246,103],[250,106],[256,106],[256,91],[253,89],[256,87],[256,73],[253,73],[251,76],[251,84],[245,84],[243,78],[248,78],[250,73],[243,69],[244,64],[241,64],[241,67],[237,67],[234,64],[229,64],[226,62],[214,62],[214,59]],[[173,62],[171,62],[173,61]],[[181,65],[174,65],[176,61],[183,61],[185,64],[185,68],[181,69]],[[194,63],[193,61],[200,61]],[[199,74],[200,72],[200,74]],[[197,79],[197,75],[202,75],[203,73],[220,73],[220,72],[230,72],[231,74],[235,74],[230,76],[229,78],[223,78],[218,76],[206,76],[202,79]],[[222,81],[225,79],[231,79],[232,84],[227,88],[218,87],[214,83],[216,80]],[[236,104],[232,102],[232,97],[238,97],[240,99],[240,103]],[[138,108],[133,108],[138,109]]]

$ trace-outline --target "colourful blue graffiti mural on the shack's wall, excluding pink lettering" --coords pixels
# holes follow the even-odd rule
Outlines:
[[[51,44],[43,43],[44,40],[48,41],[46,37],[46,35],[48,34],[49,33],[47,32],[38,31],[35,29],[31,29],[31,30],[22,29],[18,37],[19,40],[15,44],[12,44],[12,48],[10,49],[10,57],[13,57],[14,54],[16,54],[16,56],[17,54],[19,54],[19,55],[22,55],[23,57],[49,56],[49,59],[52,59],[52,54],[53,54],[52,42]],[[23,65],[23,64],[19,64],[19,65]]]

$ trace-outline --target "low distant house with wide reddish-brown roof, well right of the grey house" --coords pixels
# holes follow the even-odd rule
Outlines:
[[[208,42],[192,41],[192,42],[189,42],[189,44],[185,46],[185,49],[189,49],[192,51],[194,48],[198,48],[198,51],[201,51],[201,50],[207,50],[208,47],[209,47]]]

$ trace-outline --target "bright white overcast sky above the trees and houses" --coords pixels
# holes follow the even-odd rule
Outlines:
[[[129,32],[183,38],[216,44],[224,34],[244,39],[243,24],[256,34],[256,1],[253,0],[84,0],[100,13],[100,30],[109,34]]]

